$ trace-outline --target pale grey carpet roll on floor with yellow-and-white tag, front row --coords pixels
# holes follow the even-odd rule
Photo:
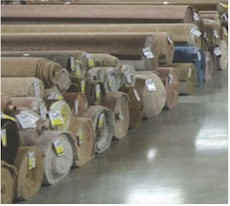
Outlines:
[[[41,138],[40,149],[44,156],[43,183],[53,185],[69,174],[74,159],[73,146],[65,133],[57,131],[45,131]]]

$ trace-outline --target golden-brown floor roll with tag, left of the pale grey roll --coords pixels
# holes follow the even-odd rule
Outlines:
[[[17,197],[28,200],[39,192],[43,181],[43,158],[40,149],[20,147],[16,159]]]

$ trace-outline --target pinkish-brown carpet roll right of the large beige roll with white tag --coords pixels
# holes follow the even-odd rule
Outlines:
[[[168,109],[173,109],[177,105],[179,95],[179,81],[176,76],[175,68],[160,67],[158,69],[158,72],[159,77],[163,81],[165,89],[167,91],[167,100],[165,106]]]

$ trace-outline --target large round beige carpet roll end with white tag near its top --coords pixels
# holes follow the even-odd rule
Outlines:
[[[161,79],[153,72],[136,72],[136,90],[144,104],[144,117],[152,118],[160,114],[167,99]]]

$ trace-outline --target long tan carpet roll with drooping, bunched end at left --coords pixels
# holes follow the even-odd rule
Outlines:
[[[45,58],[5,57],[1,67],[2,77],[37,77],[46,87],[56,85],[61,91],[70,87],[68,72],[60,64]]]

